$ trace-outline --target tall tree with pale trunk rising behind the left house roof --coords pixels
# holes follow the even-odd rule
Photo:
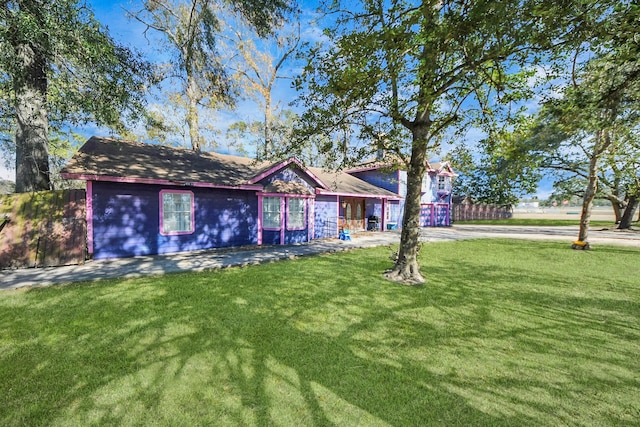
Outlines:
[[[204,145],[201,110],[233,106],[237,84],[220,50],[225,17],[237,15],[258,36],[271,34],[290,10],[283,0],[145,0],[130,16],[161,36],[168,60],[159,65],[163,102],[182,112],[194,151]],[[168,54],[168,55],[167,55]]]

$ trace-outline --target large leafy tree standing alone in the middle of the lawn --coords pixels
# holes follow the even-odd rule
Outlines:
[[[309,49],[299,82],[301,134],[352,132],[340,150],[385,149],[407,169],[400,250],[387,277],[423,283],[418,264],[421,185],[429,150],[472,123],[504,120],[534,66],[582,31],[591,5],[533,0],[332,1],[324,46]],[[335,139],[334,139],[335,141]]]

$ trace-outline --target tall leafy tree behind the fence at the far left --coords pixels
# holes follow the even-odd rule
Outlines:
[[[146,64],[77,0],[0,2],[0,116],[14,139],[16,191],[51,188],[49,139],[93,121],[116,130],[142,111]]]

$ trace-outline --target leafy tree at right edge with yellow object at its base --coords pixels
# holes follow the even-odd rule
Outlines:
[[[633,34],[638,28],[640,7],[614,4],[595,31],[597,37],[573,52],[573,66],[565,75],[569,83],[543,103],[532,136],[524,142],[540,167],[559,172],[559,188],[583,196],[581,242],[587,242],[598,194],[611,200],[619,220],[624,217],[623,228],[636,207],[640,64]],[[619,209],[626,207],[630,211],[620,215]]]

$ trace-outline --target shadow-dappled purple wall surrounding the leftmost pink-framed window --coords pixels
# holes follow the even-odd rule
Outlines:
[[[192,233],[160,232],[160,191],[143,184],[93,182],[95,259],[155,255],[257,243],[255,192],[188,188],[194,195]]]

